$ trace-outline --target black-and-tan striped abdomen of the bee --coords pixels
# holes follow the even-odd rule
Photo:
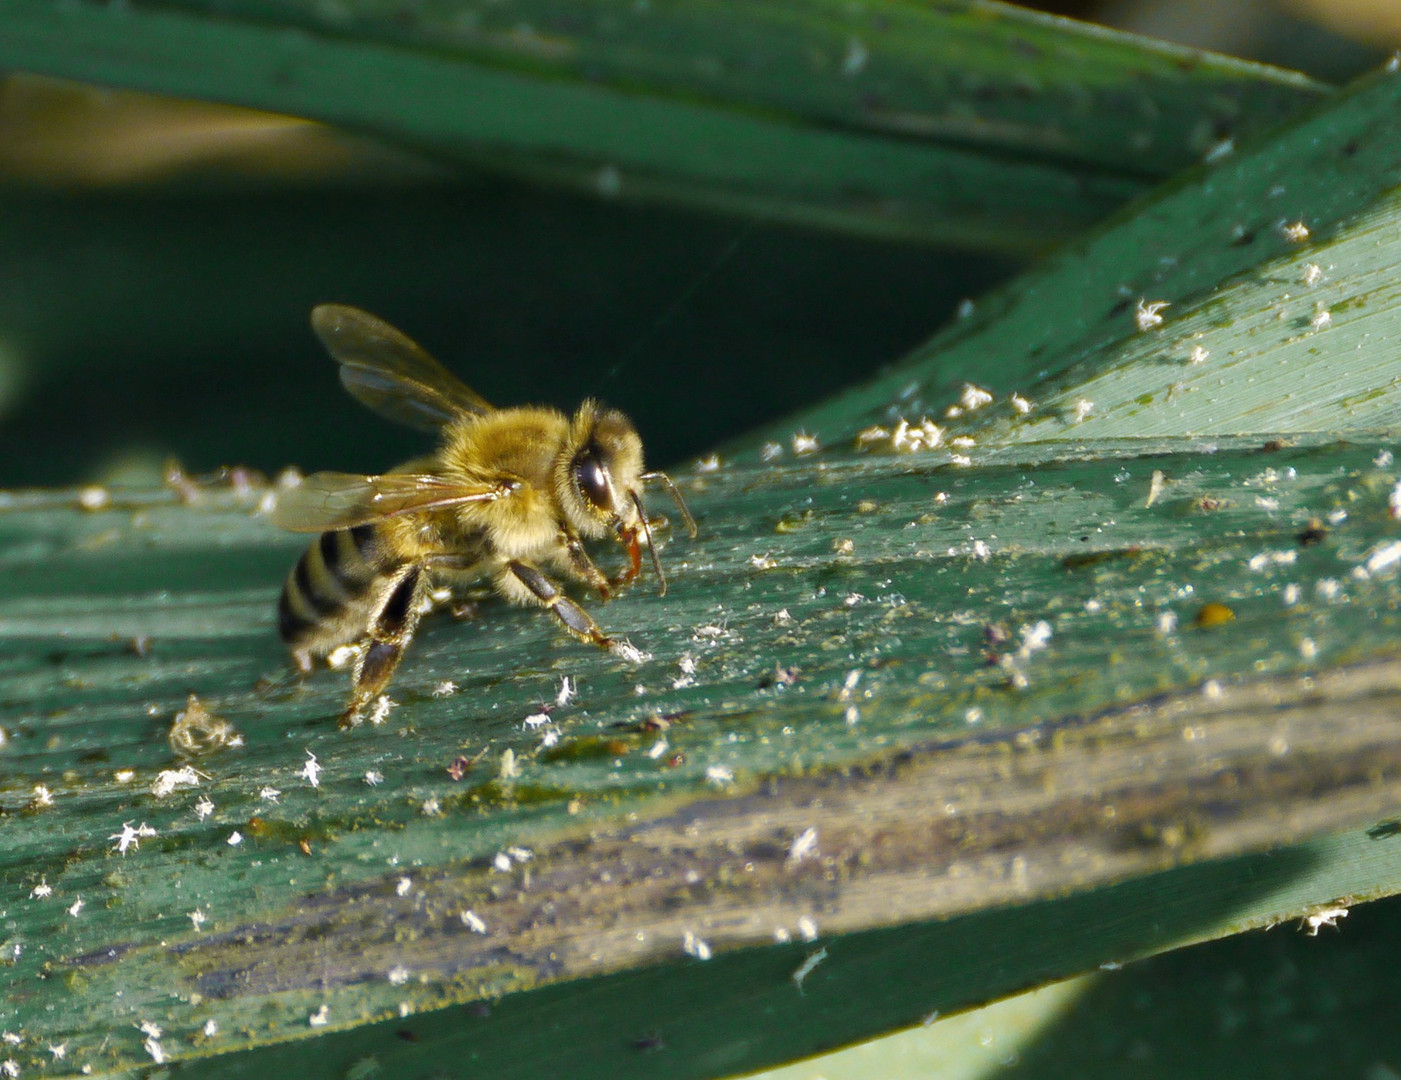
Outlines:
[[[374,597],[392,569],[374,525],[322,532],[287,574],[277,600],[277,629],[291,646],[336,637],[335,626]],[[363,629],[363,628],[361,628]]]

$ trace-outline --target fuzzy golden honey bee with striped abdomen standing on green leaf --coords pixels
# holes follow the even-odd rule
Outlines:
[[[314,473],[272,511],[280,528],[321,534],[283,584],[277,626],[301,671],[312,657],[353,647],[342,727],[389,684],[434,586],[486,579],[506,600],[548,608],[574,637],[604,649],[618,643],[546,567],[608,600],[640,573],[644,542],[665,594],[642,485],[665,485],[692,536],[696,525],[671,478],[644,471],[642,438],[626,416],[594,401],[573,416],[495,409],[359,308],[322,304],[311,326],[352,396],[441,436],[434,454],[378,476]],[[614,579],[584,551],[586,539],[609,532],[628,555]]]

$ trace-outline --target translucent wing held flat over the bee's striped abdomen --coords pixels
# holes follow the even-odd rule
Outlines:
[[[464,503],[489,503],[516,490],[514,483],[454,483],[426,472],[315,472],[297,487],[277,494],[272,522],[291,532],[353,528],[399,514],[443,510]]]

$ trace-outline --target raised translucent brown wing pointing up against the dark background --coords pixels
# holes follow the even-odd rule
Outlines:
[[[464,413],[493,412],[457,375],[384,319],[345,304],[321,304],[311,328],[340,364],[340,382],[385,419],[437,431]]]

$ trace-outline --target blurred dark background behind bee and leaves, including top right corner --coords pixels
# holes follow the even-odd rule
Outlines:
[[[1401,34],[1393,4],[1048,8],[1334,83]],[[326,300],[388,318],[500,403],[604,396],[677,462],[897,360],[1019,266],[28,76],[0,84],[0,486],[151,480],[168,457],[375,471],[417,452],[340,392],[307,328]]]

